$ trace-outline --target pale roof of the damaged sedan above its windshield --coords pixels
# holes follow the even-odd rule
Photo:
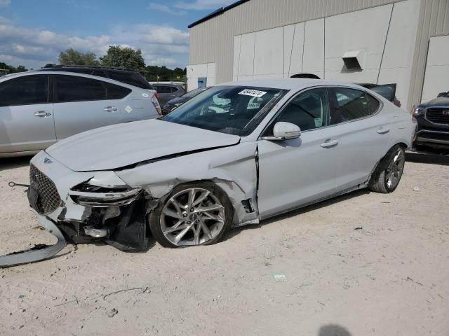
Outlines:
[[[283,78],[283,79],[253,79],[253,80],[239,80],[236,82],[229,82],[220,85],[236,85],[236,86],[251,86],[251,87],[271,87],[282,90],[301,90],[306,87],[314,87],[321,85],[345,86],[354,87],[358,90],[364,89],[359,85],[347,82],[337,82],[333,80],[312,79],[312,78]]]

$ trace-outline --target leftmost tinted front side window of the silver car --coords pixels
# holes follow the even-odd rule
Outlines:
[[[24,76],[0,85],[0,106],[44,104],[48,100],[48,76]]]

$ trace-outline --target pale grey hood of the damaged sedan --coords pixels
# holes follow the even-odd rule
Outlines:
[[[166,155],[238,144],[240,137],[163,120],[143,120],[76,134],[46,153],[76,172],[111,170]]]

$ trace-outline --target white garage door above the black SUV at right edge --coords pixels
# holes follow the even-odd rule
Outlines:
[[[449,35],[430,38],[421,102],[449,91]]]

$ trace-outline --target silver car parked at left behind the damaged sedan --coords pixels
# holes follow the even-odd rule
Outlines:
[[[14,73],[0,78],[0,158],[32,155],[80,132],[160,113],[154,92],[109,78]]]

